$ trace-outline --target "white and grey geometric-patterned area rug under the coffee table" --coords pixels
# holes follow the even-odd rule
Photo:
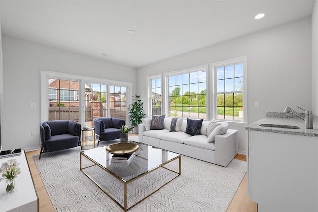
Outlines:
[[[138,136],[129,139],[138,141]],[[38,160],[38,155],[33,156],[55,211],[122,212],[113,200],[79,170],[79,152],[80,147],[76,147],[45,153],[41,160]],[[227,167],[221,167],[186,156],[182,156],[181,161],[180,176],[129,212],[225,212],[246,172],[246,162],[234,159]],[[100,176],[100,182],[109,187],[115,199],[123,199],[121,183],[101,169],[88,171]],[[170,175],[165,169],[158,169],[135,181],[128,187],[128,194],[131,194],[127,198],[128,206],[135,199],[145,196],[152,187],[159,186]],[[156,177],[160,180],[153,180]]]

